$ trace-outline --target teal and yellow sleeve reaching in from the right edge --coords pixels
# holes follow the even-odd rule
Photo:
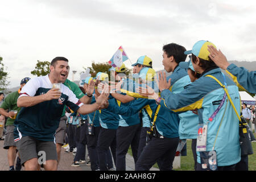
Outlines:
[[[243,67],[240,68],[235,64],[230,64],[226,72],[233,78],[237,86],[250,93],[256,93],[256,71],[248,72]]]

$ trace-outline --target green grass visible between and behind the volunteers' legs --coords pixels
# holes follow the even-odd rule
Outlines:
[[[256,134],[254,133],[256,138]],[[187,140],[187,156],[181,156],[180,168],[175,169],[175,171],[194,171],[194,159],[191,150],[192,140]],[[249,155],[249,171],[256,171],[256,142],[251,142],[253,145],[254,154]],[[131,154],[131,148],[128,150],[128,154]],[[158,165],[154,165],[155,168],[158,168]]]

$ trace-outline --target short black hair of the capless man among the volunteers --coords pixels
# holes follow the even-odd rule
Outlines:
[[[174,60],[177,64],[179,64],[181,61],[185,61],[187,58],[187,55],[184,54],[184,52],[187,50],[185,47],[180,46],[179,44],[166,44],[163,46],[163,51],[166,52],[167,57],[174,56]]]

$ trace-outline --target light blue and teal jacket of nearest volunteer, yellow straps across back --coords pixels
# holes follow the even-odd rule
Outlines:
[[[163,90],[161,93],[163,99],[160,104],[175,112],[198,109],[199,118],[203,120],[204,124],[207,124],[209,117],[220,104],[225,91],[213,78],[206,77],[206,75],[212,75],[224,84],[220,68],[212,69],[202,73],[202,76],[183,92],[174,94],[170,90]],[[238,88],[228,77],[226,77],[226,83],[230,97],[240,113],[241,101]],[[219,127],[220,131],[218,132]],[[207,151],[212,150],[215,139],[214,150],[217,152],[218,166],[230,166],[241,160],[239,122],[228,98],[213,121],[208,123]],[[200,163],[199,156],[197,155],[197,162]]]

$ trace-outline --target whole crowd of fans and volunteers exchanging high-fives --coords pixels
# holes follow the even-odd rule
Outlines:
[[[77,167],[86,162],[87,147],[92,171],[125,171],[131,147],[136,171],[155,163],[171,171],[187,139],[195,170],[248,170],[239,121],[242,113],[253,128],[255,106],[241,109],[238,86],[256,93],[256,72],[229,64],[204,40],[189,51],[166,44],[162,56],[164,70],[172,72],[168,77],[156,74],[150,57],[141,56],[129,77],[122,64],[110,69],[110,77],[98,72],[78,86],[67,79],[68,59],[55,57],[49,75],[23,78],[0,106],[1,118],[7,118],[4,148],[10,170],[57,170],[65,158],[61,147],[75,155],[71,166]]]

